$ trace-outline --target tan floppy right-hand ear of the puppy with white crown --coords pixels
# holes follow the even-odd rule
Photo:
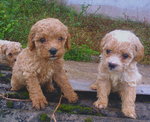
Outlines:
[[[137,43],[135,43],[135,61],[140,61],[144,56],[144,47],[141,44],[141,42],[138,40]]]

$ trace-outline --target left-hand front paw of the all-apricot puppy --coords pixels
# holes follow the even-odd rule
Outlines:
[[[32,106],[38,110],[45,108],[45,106],[48,104],[44,96],[35,97],[34,99],[31,98],[31,100],[32,100]]]

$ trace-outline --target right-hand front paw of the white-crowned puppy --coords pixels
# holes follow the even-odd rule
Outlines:
[[[123,109],[122,112],[125,116],[136,119],[136,113],[133,107],[132,108],[127,107]]]

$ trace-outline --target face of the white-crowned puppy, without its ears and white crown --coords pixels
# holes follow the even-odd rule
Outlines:
[[[109,71],[122,72],[134,59],[130,43],[111,42],[103,50],[103,60]]]

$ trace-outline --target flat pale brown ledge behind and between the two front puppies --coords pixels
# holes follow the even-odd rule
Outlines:
[[[66,61],[69,81],[77,91],[93,91],[90,85],[96,80],[98,63]],[[143,78],[138,83],[137,94],[150,94],[150,66],[138,64]]]

